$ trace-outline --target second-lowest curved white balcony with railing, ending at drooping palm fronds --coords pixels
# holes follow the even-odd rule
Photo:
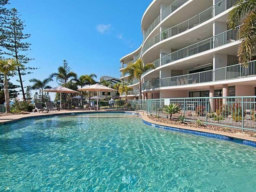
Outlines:
[[[240,25],[237,26],[235,29],[230,29],[216,36],[212,36],[208,39],[205,39],[203,41],[200,41],[188,47],[172,52],[169,55],[161,57],[158,60],[155,60],[153,63],[156,68],[163,68],[164,65],[169,65],[172,62],[175,62],[177,60],[190,57],[192,55],[197,55],[199,53],[203,53],[208,50],[215,49],[217,47],[221,47],[229,43],[236,42],[238,41],[237,35],[238,35],[239,28],[240,28]],[[156,69],[146,71],[143,74],[142,78],[155,70]]]

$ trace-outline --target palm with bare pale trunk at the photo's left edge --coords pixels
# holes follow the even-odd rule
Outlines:
[[[0,72],[4,74],[4,99],[6,104],[6,113],[10,113],[10,97],[8,89],[8,78],[10,73],[17,70],[17,67],[21,66],[19,63],[12,59],[1,59],[0,60]]]

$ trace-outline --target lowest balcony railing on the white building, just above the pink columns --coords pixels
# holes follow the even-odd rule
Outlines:
[[[148,81],[142,84],[142,90],[154,89],[159,87],[172,87],[180,85],[208,83],[214,81],[224,81],[250,76],[256,76],[256,60],[250,61],[248,63],[248,68],[244,68],[241,64],[237,64],[199,73],[192,73],[187,75],[167,77]]]

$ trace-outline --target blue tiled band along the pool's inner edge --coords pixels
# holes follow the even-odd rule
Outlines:
[[[82,114],[82,113],[87,113],[87,114],[88,113],[130,113],[130,114],[136,115],[136,113],[129,112],[129,111],[102,111],[102,112],[92,111],[92,112],[57,113],[57,114],[51,113],[51,114],[47,114],[47,115],[43,115],[43,116],[29,116],[29,117],[23,117],[21,119],[15,119],[13,121],[3,122],[3,123],[0,123],[0,126],[5,125],[5,124],[15,123],[17,121],[21,121],[21,120],[24,120],[24,119],[34,119],[34,118],[42,118],[42,117],[49,117],[49,116],[61,116],[61,115],[74,115],[74,114]],[[232,142],[235,142],[235,143],[240,143],[240,144],[256,147],[256,142],[250,141],[250,140],[242,140],[242,139],[238,140],[236,138],[228,137],[228,136],[225,136],[225,135],[219,135],[219,134],[214,134],[214,133],[207,133],[207,132],[200,132],[200,131],[194,131],[194,130],[189,130],[189,129],[181,129],[181,128],[163,126],[163,125],[159,125],[159,124],[150,123],[148,121],[145,121],[144,119],[142,119],[142,121],[143,121],[143,123],[145,123],[147,125],[150,125],[150,126],[156,127],[156,128],[160,128],[160,129],[178,131],[178,132],[189,133],[189,134],[193,134],[193,135],[201,135],[201,136],[205,136],[205,137],[211,137],[211,138],[216,138],[216,139],[225,140],[225,141],[232,141]]]

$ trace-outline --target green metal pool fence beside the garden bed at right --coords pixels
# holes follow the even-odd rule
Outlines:
[[[256,130],[256,97],[193,97],[150,100],[128,100],[131,107],[140,111],[169,117],[164,108],[169,104],[177,104],[179,112],[172,115],[178,119],[185,117],[185,121],[237,128],[242,130]]]

